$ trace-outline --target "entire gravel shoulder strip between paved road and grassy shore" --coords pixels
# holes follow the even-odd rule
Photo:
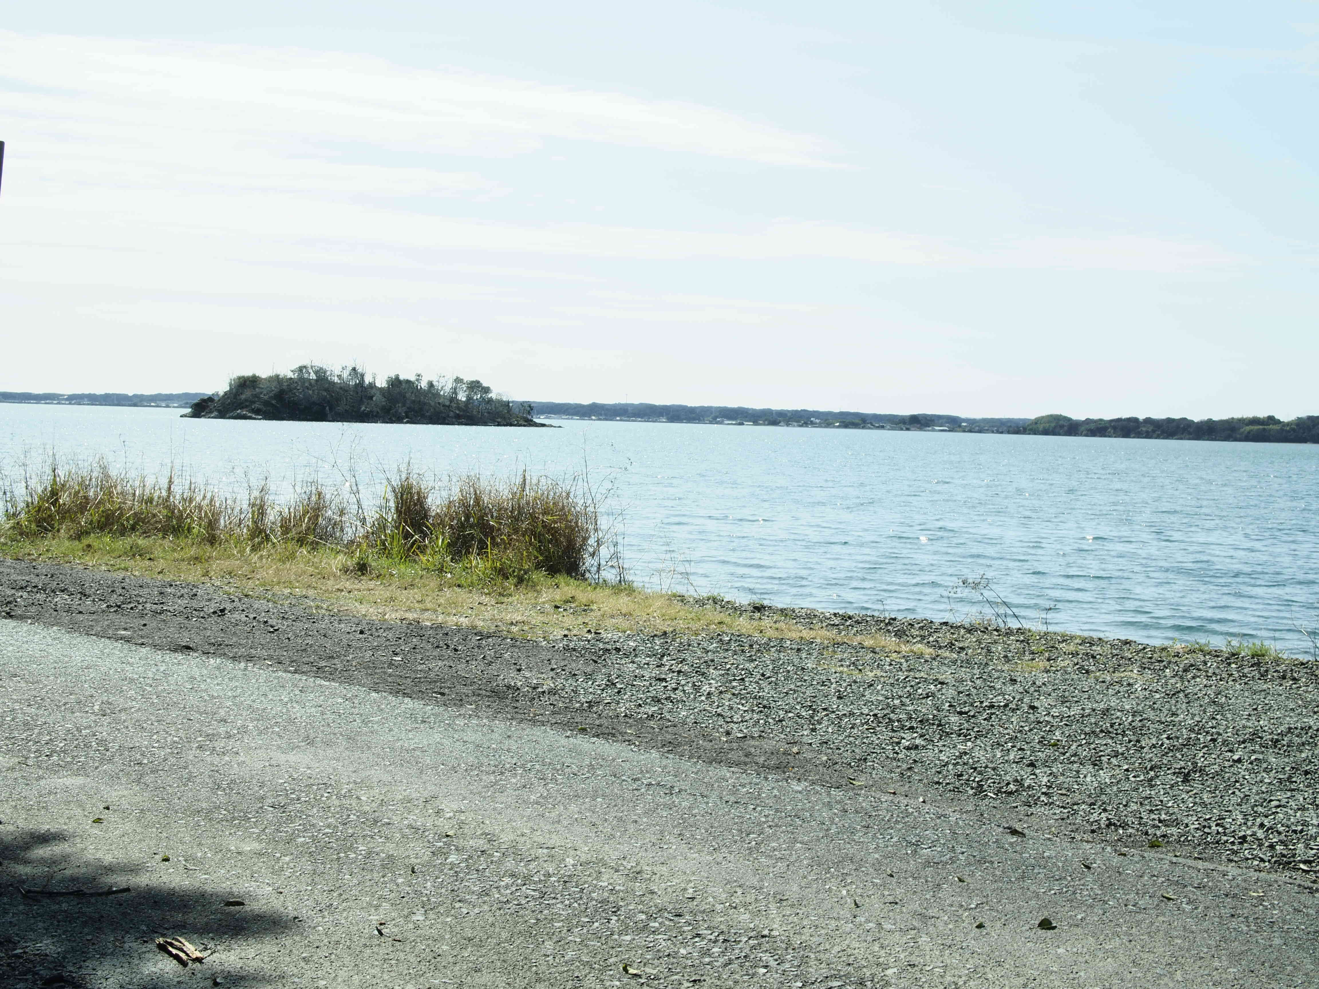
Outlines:
[[[1162,854],[1319,876],[1319,663],[770,611],[930,653],[733,634],[537,642],[0,560],[0,617],[892,791],[1116,849],[1157,843]]]

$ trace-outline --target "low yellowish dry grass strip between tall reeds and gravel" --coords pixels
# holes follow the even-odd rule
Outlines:
[[[860,645],[885,653],[929,654],[888,636],[845,636],[773,612],[732,614],[677,595],[539,574],[524,582],[475,584],[415,560],[363,558],[334,547],[237,541],[204,543],[162,537],[62,535],[0,538],[7,556],[75,563],[142,576],[210,584],[385,621],[487,629],[525,638],[590,632],[711,636]],[[364,571],[364,572],[363,572]]]

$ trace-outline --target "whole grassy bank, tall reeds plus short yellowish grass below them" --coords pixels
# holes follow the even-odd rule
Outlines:
[[[355,492],[310,484],[282,502],[264,487],[224,498],[173,477],[55,467],[4,492],[0,554],[526,638],[729,633],[930,651],[637,588],[580,483],[524,475],[441,488],[401,472],[369,510]]]

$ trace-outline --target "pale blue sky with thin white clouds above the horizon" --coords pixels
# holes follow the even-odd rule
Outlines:
[[[0,0],[0,390],[1316,414],[1316,96],[1315,0]]]

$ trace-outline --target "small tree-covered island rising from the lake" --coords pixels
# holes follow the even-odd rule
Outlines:
[[[462,377],[422,381],[390,375],[384,384],[357,367],[302,364],[288,375],[241,375],[219,394],[193,402],[186,419],[379,422],[422,426],[546,426],[528,405]]]

